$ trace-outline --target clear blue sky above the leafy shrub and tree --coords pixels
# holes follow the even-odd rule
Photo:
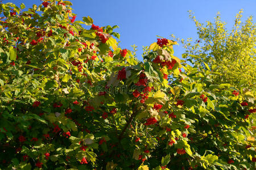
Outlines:
[[[142,46],[156,42],[157,35],[170,39],[174,34],[180,39],[192,37],[196,40],[196,27],[188,17],[188,10],[195,12],[199,22],[213,21],[217,12],[232,28],[234,18],[243,9],[243,20],[250,15],[256,17],[256,0],[69,0],[77,19],[90,16],[95,25],[118,25],[121,48],[132,49],[137,45],[137,57],[142,59]],[[23,2],[26,7],[39,5],[39,0],[5,0],[16,5]],[[256,19],[254,19],[255,22]],[[88,27],[89,28],[89,27]],[[174,46],[175,56],[181,58],[181,45]]]

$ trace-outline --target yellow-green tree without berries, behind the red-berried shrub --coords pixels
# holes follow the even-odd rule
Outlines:
[[[197,27],[198,40],[184,42],[183,58],[195,65],[207,65],[213,71],[214,83],[230,83],[236,86],[246,83],[255,90],[256,80],[256,26],[250,16],[241,21],[242,10],[236,15],[231,31],[217,14],[215,21],[200,23],[190,11],[190,18]]]

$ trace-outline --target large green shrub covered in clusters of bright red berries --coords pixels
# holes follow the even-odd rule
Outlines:
[[[71,5],[0,5],[1,169],[255,168],[250,89],[213,84],[168,39],[140,62]]]

